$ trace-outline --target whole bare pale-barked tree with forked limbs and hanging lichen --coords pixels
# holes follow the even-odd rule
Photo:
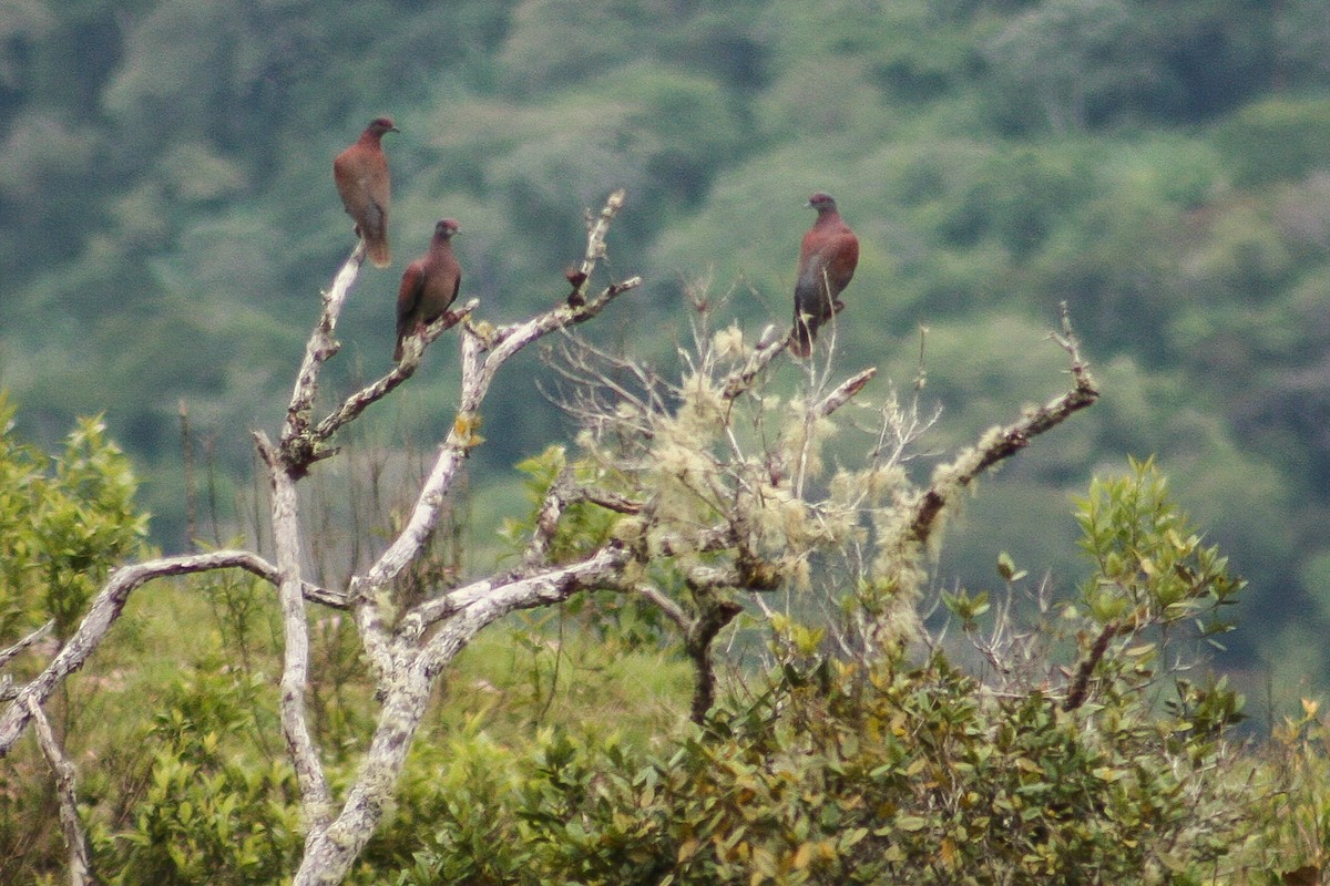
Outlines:
[[[28,727],[41,729],[41,705],[65,677],[89,662],[133,591],[154,578],[247,570],[275,586],[282,612],[281,721],[306,826],[305,853],[293,882],[338,883],[392,798],[438,677],[495,620],[567,600],[580,591],[641,595],[681,630],[684,650],[697,671],[693,717],[700,720],[716,692],[713,640],[750,599],[745,595],[801,583],[818,551],[862,550],[871,543],[872,557],[861,559],[874,574],[890,576],[898,610],[910,610],[928,545],[948,502],[983,470],[1097,397],[1064,316],[1057,340],[1071,357],[1072,384],[1047,406],[1027,410],[1012,424],[986,433],[942,465],[927,485],[915,487],[900,464],[920,424],[911,422],[887,399],[864,464],[851,476],[818,480],[823,422],[868,387],[875,369],[837,380],[830,359],[810,361],[802,393],[777,404],[766,397],[761,383],[783,352],[785,336],[766,335],[750,345],[737,328],[713,333],[700,327],[693,348],[684,355],[680,380],[665,384],[641,361],[600,353],[567,335],[641,284],[636,276],[598,291],[589,283],[622,201],[622,191],[612,194],[589,219],[584,259],[568,274],[573,291],[556,307],[521,323],[495,327],[475,319],[476,300],[462,304],[408,340],[403,360],[391,372],[317,418],[321,372],[338,352],[338,317],[364,259],[363,247],[358,247],[323,296],[278,440],[274,442],[263,432],[254,434],[267,472],[275,562],[253,551],[222,550],[154,559],[112,573],[77,631],[47,667],[23,685],[0,685],[0,700],[7,701],[0,712],[0,757]],[[338,433],[407,381],[423,348],[454,327],[460,327],[462,339],[456,416],[410,515],[383,554],[346,587],[313,584],[302,574],[299,557],[298,484],[319,461],[338,454]],[[426,550],[463,461],[481,444],[483,406],[499,371],[513,355],[547,336],[559,336],[567,345],[556,363],[572,383],[565,405],[584,425],[577,441],[580,454],[547,490],[516,567],[434,588],[423,602],[399,611],[395,584]],[[834,328],[827,339],[834,340]],[[738,421],[741,410],[749,417],[746,425]],[[775,422],[771,416],[781,418],[779,426],[769,432],[765,422]],[[589,550],[556,558],[561,519],[576,503],[614,513],[614,529]],[[662,562],[678,576],[676,586],[650,578],[646,567]],[[359,772],[340,794],[329,784],[307,717],[310,607],[351,615],[380,701]],[[0,667],[35,639],[0,652]],[[61,797],[72,798],[72,765],[49,741],[49,731],[41,731],[41,737],[59,773]],[[68,816],[64,806],[61,812],[70,834],[72,877],[81,882],[77,878],[88,866],[86,840],[77,833],[72,809]]]

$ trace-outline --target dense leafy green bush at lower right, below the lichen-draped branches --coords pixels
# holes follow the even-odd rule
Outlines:
[[[996,679],[938,646],[911,663],[900,646],[838,660],[775,643],[769,679],[657,756],[557,732],[497,777],[455,751],[416,782],[446,814],[398,882],[1210,882],[1253,824],[1225,774],[1242,699],[1224,681],[1160,691],[1157,651],[1242,583],[1149,462],[1096,481],[1080,522],[1081,603],[1019,648],[980,644]],[[986,599],[948,599],[971,634]]]

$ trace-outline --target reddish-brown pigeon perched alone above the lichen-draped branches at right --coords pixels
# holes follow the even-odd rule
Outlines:
[[[809,198],[809,206],[818,211],[818,221],[803,235],[799,247],[794,331],[790,332],[790,353],[797,357],[813,353],[818,327],[845,307],[838,296],[850,284],[859,263],[859,238],[841,219],[835,201],[819,193]]]

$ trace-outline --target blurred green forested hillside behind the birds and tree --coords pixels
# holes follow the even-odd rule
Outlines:
[[[626,187],[609,267],[646,284],[593,335],[668,355],[685,282],[754,336],[789,323],[825,190],[862,242],[841,359],[907,389],[926,327],[939,446],[1053,393],[1059,302],[1103,387],[980,489],[939,583],[995,582],[1009,550],[1071,586],[1068,494],[1154,453],[1252,580],[1233,662],[1323,679],[1327,84],[1323,0],[15,0],[0,388],[43,440],[104,410],[180,549],[180,404],[239,522],[246,430],[281,421],[354,244],[331,158],[371,117],[402,130],[394,264],[343,316],[346,387],[390,365],[398,279],[439,218],[462,223],[463,296],[509,320],[563,298],[584,210]],[[430,445],[454,405],[431,379],[455,363],[442,340],[370,442]],[[483,417],[472,507],[492,525],[517,490],[488,469],[560,416],[525,383]]]

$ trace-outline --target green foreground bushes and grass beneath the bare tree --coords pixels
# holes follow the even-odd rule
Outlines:
[[[5,469],[32,457],[12,430],[5,442]],[[80,442],[94,461],[120,458],[104,440]],[[559,472],[528,472],[535,525]],[[39,489],[39,507],[66,494]],[[104,486],[82,499],[110,502],[122,499]],[[943,595],[950,639],[864,643],[882,602],[864,587],[819,622],[743,616],[735,636],[757,644],[757,667],[735,672],[697,725],[684,721],[684,644],[660,622],[585,595],[511,622],[459,662],[348,882],[1314,877],[1330,850],[1317,704],[1249,744],[1233,732],[1242,696],[1180,665],[1232,627],[1218,616],[1241,579],[1153,464],[1096,480],[1076,518],[1088,566],[1077,594],[1053,599],[1004,555],[1001,590]],[[110,522],[134,534],[141,519],[129,509]],[[572,550],[602,527],[573,518],[564,530]],[[21,599],[32,624],[51,596],[28,586]],[[281,668],[278,608],[263,582],[230,573],[157,587],[96,675],[66,684],[57,709],[84,761],[80,817],[105,882],[273,883],[299,858],[299,789],[266,676]],[[339,782],[376,707],[348,639],[344,624],[317,623],[314,720]],[[52,806],[45,766],[31,747],[7,765],[4,877],[59,882],[60,834],[33,816]]]

